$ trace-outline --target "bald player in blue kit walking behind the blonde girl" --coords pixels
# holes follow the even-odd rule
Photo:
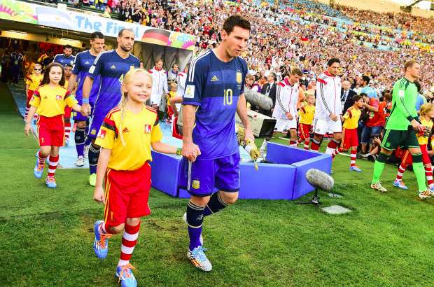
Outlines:
[[[118,48],[99,54],[90,67],[83,83],[83,107],[89,111],[91,109],[89,103],[92,84],[98,76],[101,78],[98,84],[99,92],[97,99],[95,99],[88,134],[88,137],[92,138],[88,155],[90,169],[89,183],[91,186],[95,186],[95,181],[97,180],[99,146],[94,144],[94,140],[97,138],[99,127],[101,127],[107,113],[120,102],[120,84],[125,73],[130,71],[130,69],[140,66],[140,60],[131,55],[133,46],[134,31],[132,29],[120,30],[118,33]]]

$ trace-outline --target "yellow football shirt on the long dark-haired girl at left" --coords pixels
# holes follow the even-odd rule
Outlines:
[[[38,115],[51,118],[64,115],[66,106],[72,107],[78,104],[78,102],[61,85],[57,85],[56,87],[41,85],[34,92],[29,104],[38,108],[36,110]]]

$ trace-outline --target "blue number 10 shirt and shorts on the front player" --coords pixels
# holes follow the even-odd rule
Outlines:
[[[195,162],[183,158],[181,184],[191,195],[211,195],[215,188],[239,190],[235,113],[246,75],[244,59],[222,62],[212,50],[193,59],[190,65],[183,104],[197,106],[193,143],[201,152]]]

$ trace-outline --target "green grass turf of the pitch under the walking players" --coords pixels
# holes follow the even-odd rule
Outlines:
[[[3,86],[0,94],[0,286],[115,286],[121,238],[111,239],[106,260],[94,256],[92,225],[102,205],[92,202],[87,173],[59,169],[55,190],[34,179],[37,143],[24,136]],[[240,200],[206,218],[210,273],[186,258],[187,200],[152,190],[153,214],[141,225],[131,261],[139,286],[434,286],[434,200],[418,200],[411,172],[410,190],[396,190],[395,168],[386,166],[391,192],[379,195],[369,188],[372,162],[358,160],[361,174],[348,172],[348,164],[339,155],[333,167],[335,192],[344,197],[321,193],[321,200],[351,214]]]

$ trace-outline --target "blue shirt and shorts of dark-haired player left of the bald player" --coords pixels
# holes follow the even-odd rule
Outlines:
[[[76,61],[74,62],[72,73],[77,76],[78,86],[76,91],[76,99],[79,105],[83,104],[83,83],[85,83],[87,72],[89,71],[90,66],[92,66],[96,58],[97,56],[92,55],[89,50],[79,52],[76,55]],[[99,92],[100,82],[100,76],[96,76],[93,81],[92,90],[90,90],[89,104],[92,107],[92,113],[94,109],[95,99],[97,99],[97,95]],[[77,121],[85,121],[87,120],[87,117],[83,116],[81,113],[74,111],[73,119]]]

